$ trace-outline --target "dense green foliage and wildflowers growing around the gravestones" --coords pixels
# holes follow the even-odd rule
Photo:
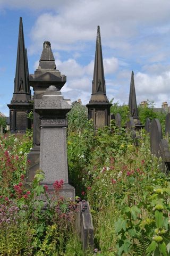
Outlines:
[[[79,103],[68,120],[70,183],[77,199],[90,203],[94,251],[81,249],[74,230],[77,203],[60,196],[62,180],[55,181],[52,197],[48,187],[41,185],[44,174],[40,170],[31,186],[25,186],[27,153],[32,146],[28,131],[1,137],[0,255],[168,256],[170,180],[162,171],[162,159],[150,154],[149,136],[143,130],[137,147],[131,134],[114,122],[94,134],[87,110]]]

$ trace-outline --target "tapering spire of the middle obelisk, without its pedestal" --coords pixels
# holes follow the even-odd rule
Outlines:
[[[99,26],[97,27],[94,79],[92,81],[92,95],[90,102],[108,102],[106,96],[105,75],[103,68],[103,55],[101,49]]]

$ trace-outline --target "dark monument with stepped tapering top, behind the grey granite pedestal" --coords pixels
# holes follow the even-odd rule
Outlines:
[[[29,85],[33,87],[34,100],[41,100],[46,89],[50,85],[56,86],[59,90],[66,82],[66,76],[56,69],[55,59],[52,52],[50,42],[43,44],[43,52],[40,56],[38,69],[33,75],[29,75]],[[30,161],[29,178],[31,181],[35,175],[35,171],[39,169],[40,155],[40,116],[38,112],[33,110],[33,148],[28,154]]]

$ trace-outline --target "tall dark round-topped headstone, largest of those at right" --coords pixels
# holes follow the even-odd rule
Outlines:
[[[163,138],[162,128],[158,119],[153,119],[150,126],[150,151],[159,157],[159,144]]]

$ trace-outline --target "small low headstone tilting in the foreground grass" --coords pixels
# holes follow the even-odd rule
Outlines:
[[[92,225],[92,217],[90,213],[89,203],[86,201],[79,202],[79,211],[75,221],[83,250],[93,249],[94,246],[94,227]]]

